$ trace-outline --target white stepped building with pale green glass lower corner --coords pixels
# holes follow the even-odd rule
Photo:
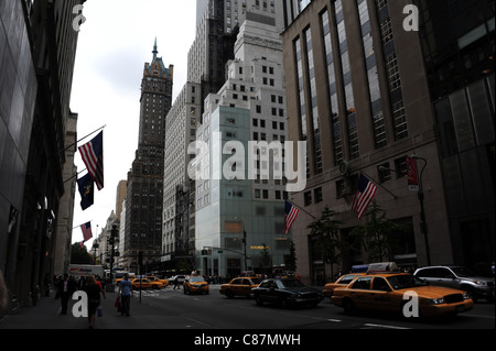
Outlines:
[[[282,151],[271,149],[272,142],[287,139],[282,42],[274,23],[272,13],[247,12],[227,80],[207,97],[197,127],[197,141],[208,149],[192,163],[200,171],[195,263],[203,274],[266,273],[290,253],[290,237],[284,234],[285,179],[273,174],[283,168],[278,163]],[[256,152],[250,141],[258,160],[248,157]],[[233,143],[236,150],[226,152]]]

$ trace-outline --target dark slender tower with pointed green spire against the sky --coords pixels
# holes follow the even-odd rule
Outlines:
[[[165,116],[171,109],[173,66],[158,57],[157,40],[151,63],[143,69],[140,97],[139,141],[128,173],[126,198],[125,267],[160,261],[162,248],[163,162]]]

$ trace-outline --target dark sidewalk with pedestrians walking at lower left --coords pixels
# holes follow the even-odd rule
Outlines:
[[[115,307],[117,293],[106,293],[101,298],[103,317],[95,317],[95,329],[153,329],[163,328],[166,316],[155,316],[153,308],[140,304],[138,297],[131,298],[131,317],[121,316]],[[34,307],[22,307],[18,314],[0,316],[0,330],[6,329],[88,329],[87,318],[76,318],[69,299],[67,315],[58,315],[61,300],[42,297]],[[137,296],[137,294],[134,294]],[[134,317],[133,317],[134,316]],[[165,319],[165,320],[164,320]]]

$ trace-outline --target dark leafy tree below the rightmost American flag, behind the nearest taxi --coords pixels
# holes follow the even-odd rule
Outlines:
[[[392,234],[402,227],[386,218],[386,211],[376,200],[366,212],[367,222],[356,227],[352,233],[358,235],[370,262],[391,261]]]

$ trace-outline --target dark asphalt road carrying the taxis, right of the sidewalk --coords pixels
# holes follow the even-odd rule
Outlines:
[[[172,317],[173,325],[160,328],[200,329],[495,329],[495,305],[479,301],[454,317],[424,320],[405,319],[388,314],[357,312],[343,309],[324,299],[315,308],[283,309],[276,305],[257,306],[245,297],[226,298],[218,286],[208,295],[184,295],[168,287],[160,292],[143,292],[134,304],[145,304],[157,314]]]

